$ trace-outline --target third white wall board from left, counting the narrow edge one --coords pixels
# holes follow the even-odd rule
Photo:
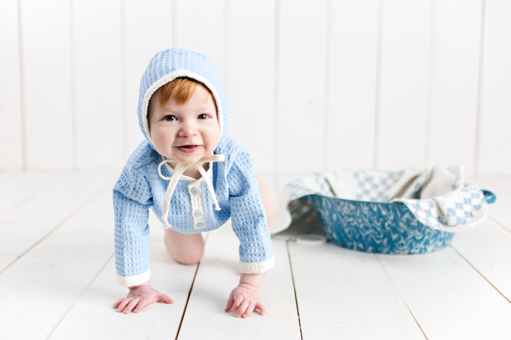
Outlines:
[[[76,164],[112,169],[122,162],[119,2],[74,2]]]

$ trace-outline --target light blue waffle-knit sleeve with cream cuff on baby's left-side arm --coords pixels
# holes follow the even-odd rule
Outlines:
[[[113,188],[115,271],[117,282],[134,286],[147,282],[149,271],[149,182],[127,165]]]

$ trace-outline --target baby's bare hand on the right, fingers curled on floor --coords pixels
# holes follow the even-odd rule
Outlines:
[[[229,311],[231,308],[238,309],[236,313],[238,318],[248,318],[254,309],[259,309],[261,315],[266,314],[266,309],[259,302],[259,288],[248,283],[240,283],[230,292],[225,311]]]

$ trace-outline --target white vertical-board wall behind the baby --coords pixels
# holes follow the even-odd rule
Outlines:
[[[217,65],[258,171],[511,176],[509,22],[505,0],[6,0],[0,170],[122,167],[142,72],[176,46]]]

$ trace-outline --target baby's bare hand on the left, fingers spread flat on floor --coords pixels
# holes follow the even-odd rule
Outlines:
[[[174,301],[165,294],[161,294],[151,287],[151,283],[147,281],[141,285],[129,287],[129,293],[125,298],[119,299],[113,304],[113,308],[117,308],[118,312],[123,311],[128,314],[130,311],[137,313],[147,305],[154,302],[174,303]],[[134,309],[133,309],[134,308]]]

